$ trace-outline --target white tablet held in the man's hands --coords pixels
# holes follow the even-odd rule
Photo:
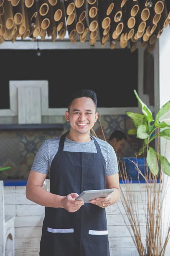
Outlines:
[[[76,200],[83,200],[84,203],[90,203],[92,199],[107,197],[114,190],[115,189],[85,190],[76,198]]]

